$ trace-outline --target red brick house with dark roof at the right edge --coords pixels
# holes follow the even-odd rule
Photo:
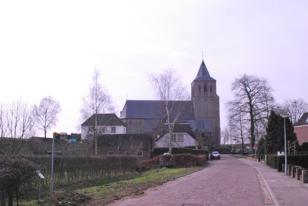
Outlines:
[[[294,133],[296,133],[298,144],[308,142],[308,112],[304,113],[294,125]]]

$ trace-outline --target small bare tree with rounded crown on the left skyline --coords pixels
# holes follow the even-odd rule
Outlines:
[[[44,131],[46,138],[47,129],[57,125],[58,114],[61,112],[59,101],[53,99],[51,96],[43,97],[39,106],[32,105],[31,116],[34,125]]]

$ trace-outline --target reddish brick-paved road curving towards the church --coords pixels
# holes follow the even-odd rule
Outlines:
[[[264,192],[263,192],[264,194]],[[265,205],[255,170],[227,155],[199,172],[145,191],[143,196],[117,200],[109,206]]]

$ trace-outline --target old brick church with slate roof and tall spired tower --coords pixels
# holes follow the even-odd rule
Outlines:
[[[191,101],[174,101],[174,105],[177,108],[184,105],[177,123],[188,124],[193,138],[202,142],[202,145],[215,144],[215,147],[219,147],[220,117],[216,80],[210,76],[203,60],[196,78],[191,83]],[[177,112],[172,110],[171,118],[174,118]],[[164,101],[127,100],[120,119],[127,126],[128,134],[153,134],[165,121],[166,116]]]

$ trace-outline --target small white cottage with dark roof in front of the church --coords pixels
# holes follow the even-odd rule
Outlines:
[[[197,146],[195,135],[188,124],[176,124],[171,134],[167,126],[162,130],[162,134],[155,140],[156,147],[168,147],[171,140],[172,147]]]

